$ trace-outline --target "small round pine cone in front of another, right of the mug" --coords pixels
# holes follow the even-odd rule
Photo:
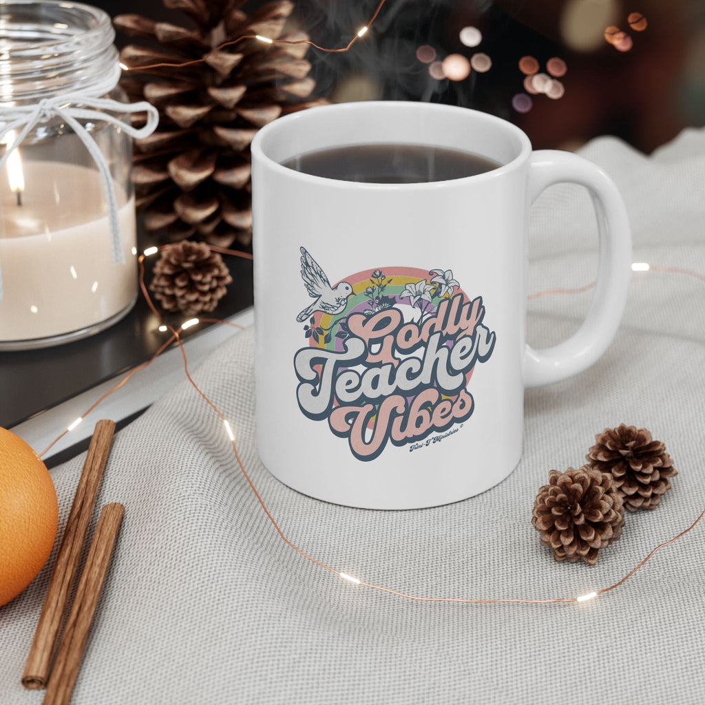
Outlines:
[[[594,565],[600,549],[622,535],[622,498],[611,475],[587,465],[551,470],[534,502],[532,524],[556,560],[575,563],[582,558]]]

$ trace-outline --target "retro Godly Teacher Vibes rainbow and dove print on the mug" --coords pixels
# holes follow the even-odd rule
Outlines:
[[[302,413],[327,420],[358,460],[458,432],[474,411],[474,367],[496,343],[482,296],[450,269],[367,269],[333,287],[305,247],[300,262],[314,298],[296,317],[308,341],[293,360]]]

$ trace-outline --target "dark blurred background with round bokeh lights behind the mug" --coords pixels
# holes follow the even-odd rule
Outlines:
[[[378,2],[296,0],[291,21],[340,47]],[[161,0],[94,4],[188,23]],[[705,124],[704,0],[387,0],[351,51],[307,59],[319,96],[468,106],[520,125],[536,148],[611,134],[651,152]]]

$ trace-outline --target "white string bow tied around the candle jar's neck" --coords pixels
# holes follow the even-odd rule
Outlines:
[[[80,105],[82,107],[75,107]],[[118,120],[109,113],[140,113],[147,112],[147,123],[139,129],[133,128],[129,123]],[[46,123],[54,116],[59,116],[73,128],[74,133],[83,142],[89,154],[93,158],[98,171],[103,179],[103,188],[108,205],[108,223],[110,226],[110,245],[113,256],[113,264],[124,264],[122,238],[120,235],[120,223],[118,221],[118,201],[115,195],[115,185],[110,176],[110,168],[106,164],[96,141],[79,120],[104,121],[116,125],[125,133],[137,140],[151,135],[159,123],[159,111],[145,102],[120,103],[108,98],[94,98],[82,93],[66,93],[51,98],[44,98],[34,105],[1,105],[0,104],[0,141],[11,130],[20,130],[16,140],[8,145],[3,157],[0,159],[0,171],[5,166],[6,161],[13,150],[17,149],[29,135],[29,133],[39,123]],[[0,269],[0,301],[3,298],[2,271]]]

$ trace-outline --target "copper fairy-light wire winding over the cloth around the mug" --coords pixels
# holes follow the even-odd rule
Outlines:
[[[168,245],[162,245],[161,247],[152,247],[148,248],[145,252],[149,252],[149,255],[154,254],[155,252],[159,252],[159,250],[163,250],[165,247],[168,247]],[[238,250],[228,250],[225,247],[216,247],[214,245],[209,245],[212,250],[216,252],[220,252],[223,255],[233,255],[235,257],[243,257],[245,259],[252,259],[252,255],[250,255],[248,252],[240,252]],[[154,312],[154,314],[159,317],[159,320],[163,320],[161,317],[161,314],[157,310],[157,307],[154,306],[154,303],[152,302],[152,298],[149,296],[149,292],[147,290],[147,286],[145,286],[145,264],[144,260],[145,257],[148,257],[149,255],[142,254],[138,258],[138,262],[140,265],[140,289],[142,290],[142,294],[145,296],[145,300],[147,301],[147,305],[149,306],[149,309]],[[690,269],[682,269],[680,267],[669,267],[669,266],[658,266],[654,264],[646,264],[646,263],[636,263],[642,266],[635,266],[632,265],[632,269],[635,269],[635,271],[663,271],[663,272],[672,272],[674,274],[686,274],[688,276],[694,276],[695,278],[698,278],[701,281],[705,281],[705,276],[702,274],[699,274],[695,271],[692,271]],[[591,283],[587,286],[582,286],[580,288],[576,289],[551,289],[551,290],[546,290],[546,291],[541,291],[536,294],[530,295],[529,298],[538,298],[539,296],[544,296],[548,295],[550,293],[582,293],[584,291],[589,290],[594,286],[594,283]],[[243,326],[240,326],[239,324],[234,324],[231,321],[223,321],[221,319],[214,319],[214,318],[209,318],[209,319],[197,319],[199,322],[209,322],[209,323],[217,323],[217,324],[228,324],[231,326],[235,326],[237,328],[242,329]],[[337,568],[332,568],[330,565],[327,565],[326,563],[323,563],[321,560],[317,560],[317,558],[314,558],[313,556],[309,556],[308,553],[306,553],[302,548],[299,548],[296,544],[293,543],[293,541],[290,541],[284,534],[284,532],[281,530],[279,527],[278,523],[274,519],[274,516],[271,514],[269,509],[267,508],[266,504],[264,503],[264,500],[262,499],[262,496],[259,494],[259,491],[257,491],[257,487],[255,486],[255,483],[252,482],[252,479],[250,478],[250,474],[247,473],[247,470],[245,470],[245,465],[243,461],[240,458],[240,453],[238,453],[238,446],[235,443],[235,436],[233,434],[233,431],[231,429],[231,426],[228,422],[228,419],[223,415],[221,410],[219,410],[218,407],[208,398],[208,396],[202,391],[202,389],[195,383],[194,379],[192,378],[189,370],[188,370],[188,360],[186,357],[185,350],[183,348],[183,343],[181,342],[181,338],[179,335],[179,330],[183,330],[183,324],[179,330],[176,330],[173,328],[173,326],[166,326],[167,329],[171,330],[171,337],[161,345],[159,350],[157,350],[152,357],[149,358],[149,360],[138,367],[135,367],[135,369],[131,370],[119,384],[116,384],[110,391],[106,392],[102,397],[100,397],[92,406],[90,406],[85,414],[87,415],[92,411],[99,403],[102,402],[107,396],[110,396],[112,393],[118,391],[136,372],[139,372],[140,369],[144,369],[145,367],[148,367],[149,364],[152,364],[152,362],[159,356],[161,355],[164,350],[168,347],[168,345],[171,345],[173,341],[176,341],[176,344],[178,345],[180,352],[181,352],[181,357],[183,360],[183,368],[185,375],[190,382],[190,384],[195,388],[195,391],[203,398],[203,400],[216,412],[216,414],[221,418],[221,421],[226,427],[226,431],[228,431],[228,436],[231,442],[231,446],[233,447],[233,454],[235,455],[235,460],[238,463],[238,467],[240,468],[240,472],[243,473],[243,476],[245,477],[245,480],[247,481],[247,484],[250,485],[250,489],[252,489],[252,492],[255,494],[255,497],[257,498],[257,501],[259,502],[259,505],[262,507],[262,510],[266,514],[267,518],[271,522],[271,524],[274,526],[274,529],[276,530],[277,534],[281,538],[284,543],[286,543],[290,548],[293,548],[294,551],[297,551],[297,553],[300,553],[301,556],[306,558],[307,560],[311,561],[312,563],[315,563],[318,565],[320,568],[324,568],[325,570],[329,570],[332,573],[335,573],[338,575],[338,577],[341,577],[343,580],[348,580],[350,582],[353,582],[356,585],[361,585],[363,587],[369,587],[373,590],[379,590],[381,592],[386,592],[388,594],[396,595],[398,597],[403,597],[405,599],[409,600],[415,600],[419,602],[457,602],[457,603],[474,603],[474,604],[494,604],[494,603],[522,603],[522,604],[529,604],[529,605],[536,605],[536,604],[550,604],[550,603],[577,603],[577,602],[583,602],[587,601],[589,599],[593,599],[594,597],[604,594],[606,592],[609,592],[611,590],[614,590],[615,588],[620,587],[622,584],[624,584],[627,580],[632,577],[632,575],[639,570],[639,568],[642,568],[649,559],[654,556],[655,553],[661,550],[661,548],[664,548],[666,546],[670,546],[670,544],[674,544],[675,541],[678,541],[681,537],[685,536],[689,531],[692,531],[694,527],[702,520],[703,517],[705,517],[705,509],[698,515],[697,519],[692,522],[692,524],[687,527],[686,529],[683,529],[680,534],[676,535],[673,537],[673,539],[670,539],[668,541],[664,541],[662,544],[658,544],[655,548],[651,550],[651,552],[637,565],[635,565],[632,570],[627,572],[627,574],[621,579],[618,580],[618,582],[615,582],[614,584],[609,585],[608,587],[603,587],[601,589],[589,592],[584,595],[580,595],[577,597],[556,597],[556,598],[549,598],[549,599],[543,599],[543,600],[529,600],[529,599],[522,599],[522,598],[489,598],[489,599],[479,599],[479,598],[461,598],[461,597],[434,597],[434,596],[421,596],[421,595],[412,595],[408,594],[399,590],[392,589],[390,587],[384,587],[383,585],[378,585],[372,582],[364,582],[363,580],[358,580],[356,577],[353,577],[351,575],[348,575],[345,572],[342,572],[341,570],[338,570]],[[80,417],[80,419],[83,418]],[[77,419],[78,420],[78,419]],[[75,423],[75,422],[74,422]],[[73,425],[73,424],[72,424]],[[68,429],[66,431],[63,431],[63,433],[56,438],[42,453],[39,455],[44,455],[44,453],[47,453],[47,450],[51,448],[51,446],[56,443],[56,441],[59,441],[64,435],[68,433]]]

